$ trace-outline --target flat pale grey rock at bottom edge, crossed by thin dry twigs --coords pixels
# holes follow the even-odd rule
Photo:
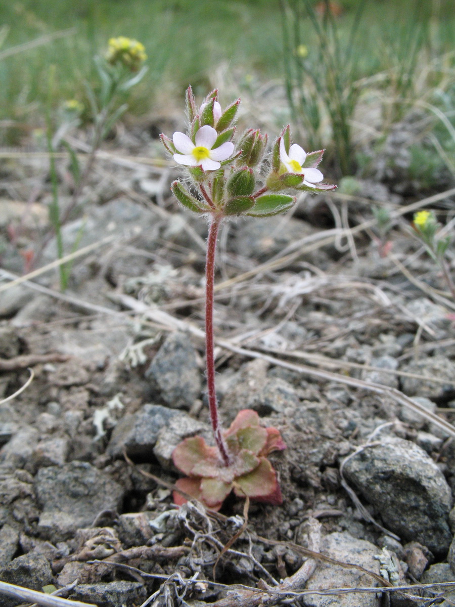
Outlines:
[[[322,538],[321,552],[328,557],[345,563],[360,565],[379,574],[379,561],[374,556],[379,549],[369,541],[357,540],[347,532],[335,532]],[[376,580],[357,569],[346,569],[337,565],[319,562],[306,588],[355,588],[356,586],[377,586]],[[308,607],[379,607],[381,600],[376,594],[339,594],[305,596]]]

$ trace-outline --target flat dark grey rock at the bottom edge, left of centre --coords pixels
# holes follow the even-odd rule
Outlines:
[[[79,584],[69,599],[94,603],[97,607],[124,607],[141,605],[147,598],[147,591],[140,582],[99,582]]]

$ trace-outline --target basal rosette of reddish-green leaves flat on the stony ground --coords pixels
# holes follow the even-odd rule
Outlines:
[[[176,486],[201,501],[207,508],[219,510],[234,489],[238,497],[279,505],[283,502],[277,473],[267,459],[272,451],[286,449],[279,430],[260,426],[255,411],[240,411],[224,434],[231,464],[226,466],[217,447],[206,444],[201,436],[186,438],[174,449],[175,466],[187,475]],[[186,499],[177,491],[174,502]]]

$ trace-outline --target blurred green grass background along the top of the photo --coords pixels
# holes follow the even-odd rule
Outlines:
[[[442,112],[426,108],[455,175],[453,0],[13,0],[0,6],[0,22],[3,141],[15,124],[42,124],[45,107],[86,103],[84,82],[96,87],[93,56],[123,35],[143,42],[148,55],[130,100],[134,115],[159,112],[171,96],[178,104],[189,83],[199,97],[222,87],[217,70],[238,85],[229,95],[248,86],[254,95],[252,83],[274,81],[306,141],[334,140],[346,157],[339,172],[349,174],[352,124],[371,89],[383,97],[385,131],[414,102]]]

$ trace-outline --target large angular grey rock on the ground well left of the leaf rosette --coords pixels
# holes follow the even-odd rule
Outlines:
[[[42,507],[38,531],[54,542],[90,526],[99,512],[116,510],[124,493],[109,476],[80,461],[41,468],[35,489]]]

